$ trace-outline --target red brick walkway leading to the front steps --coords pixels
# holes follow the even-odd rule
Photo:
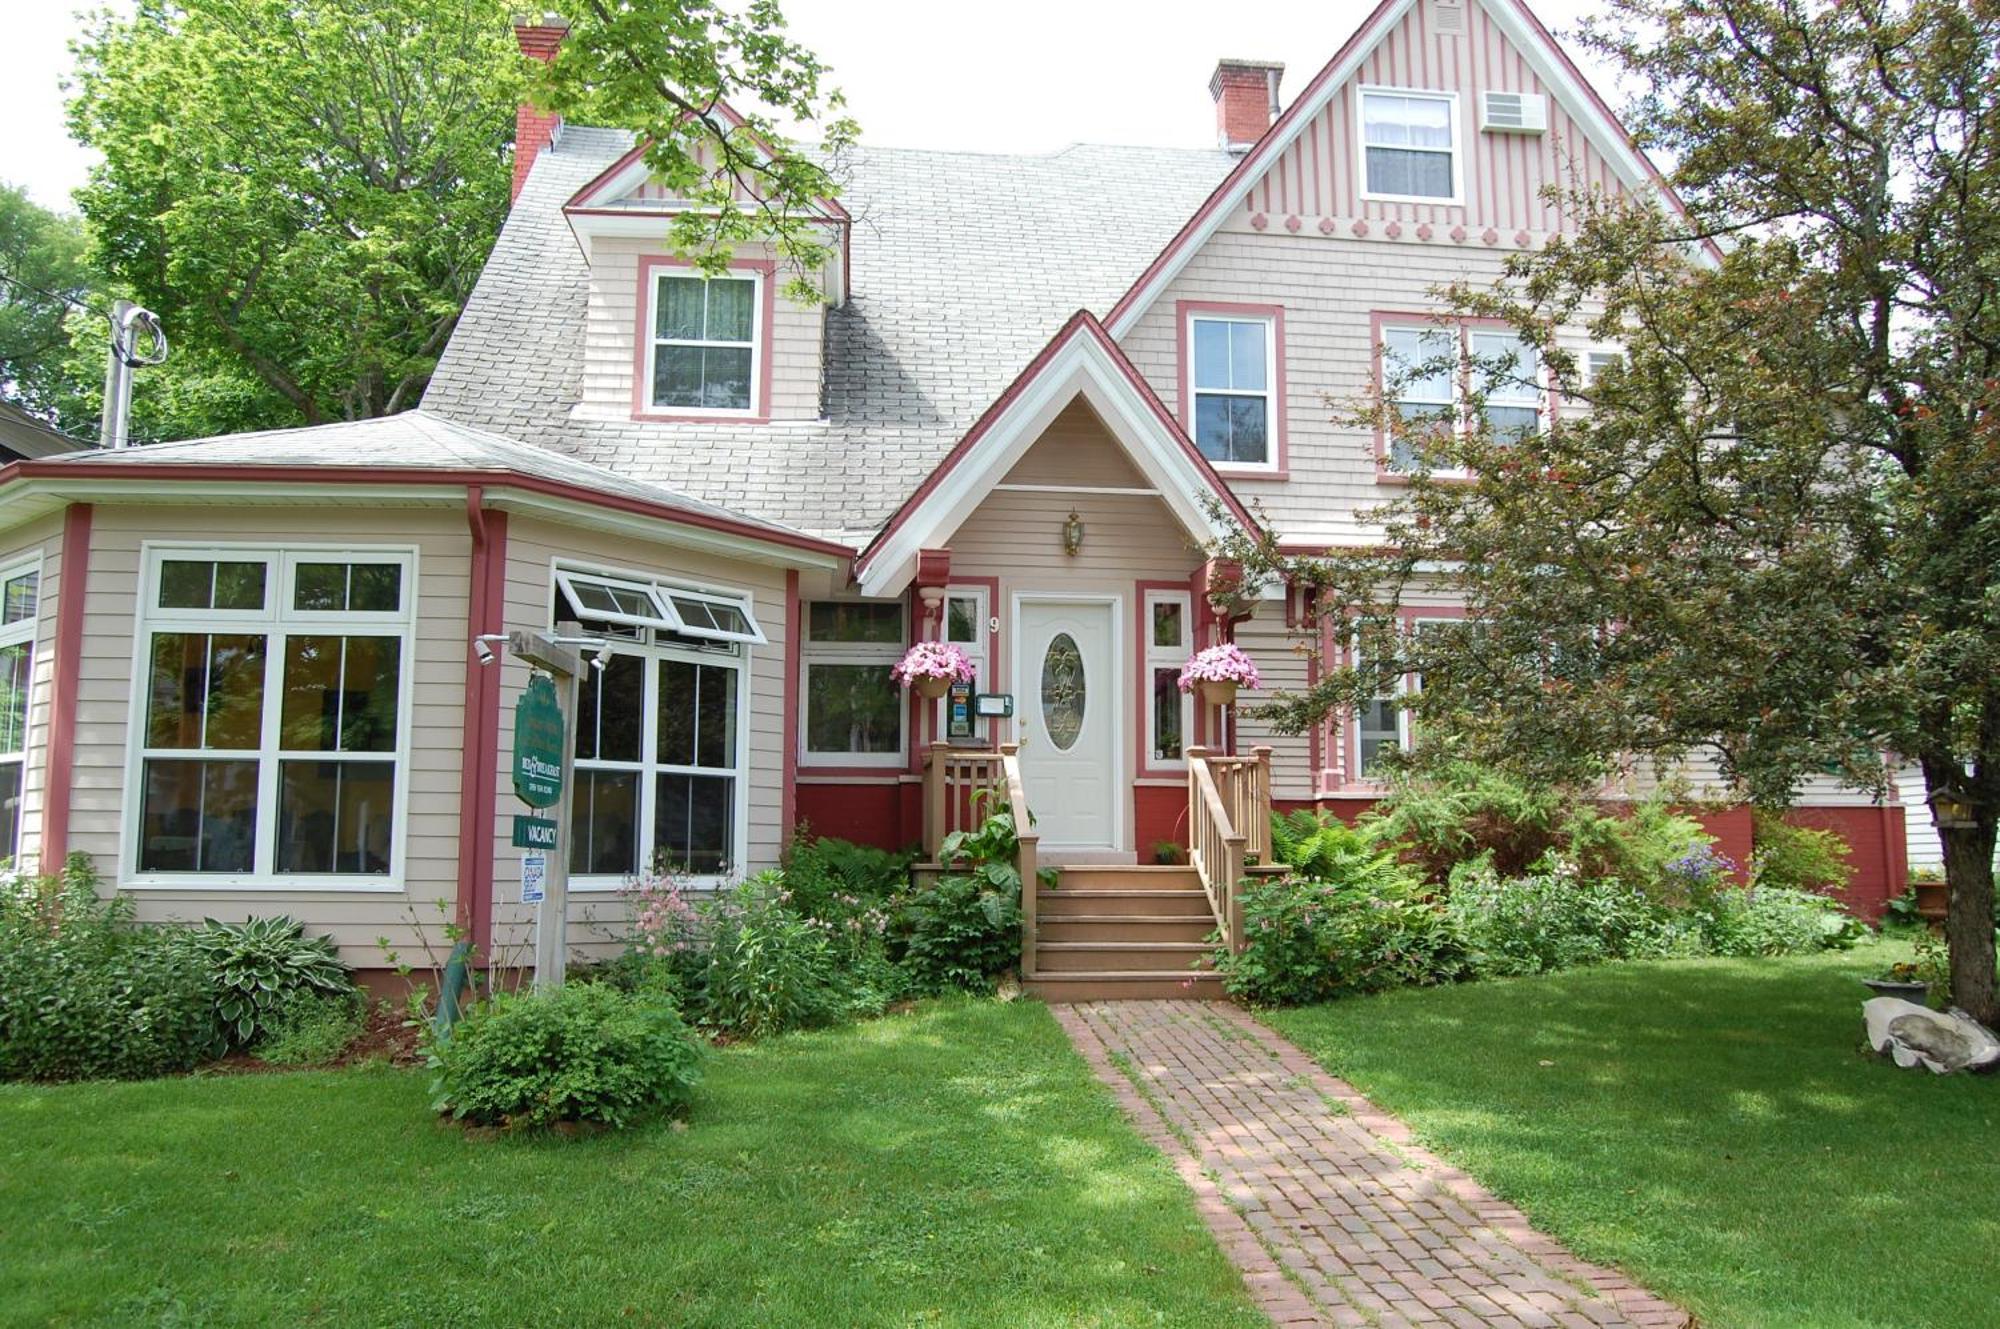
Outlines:
[[[1280,1325],[1690,1325],[1528,1227],[1242,1011],[1054,1007]],[[1162,1119],[1164,1115],[1164,1119]]]

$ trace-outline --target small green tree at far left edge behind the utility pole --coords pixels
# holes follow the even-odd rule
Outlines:
[[[82,222],[0,184],[0,400],[76,424],[58,410],[68,388],[64,320],[70,300],[90,292]]]

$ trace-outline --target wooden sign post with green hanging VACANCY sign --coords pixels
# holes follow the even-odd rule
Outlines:
[[[554,632],[510,632],[508,650],[540,669],[514,705],[514,793],[532,809],[554,807],[552,843],[524,855],[542,859],[542,899],[534,913],[534,985],[560,987],[568,969],[570,927],[570,801],[576,787],[576,675],[584,662],[556,636],[580,636],[574,622],[558,622]],[[540,819],[516,819],[540,821]],[[526,839],[516,827],[516,843]],[[526,879],[524,879],[526,885]]]

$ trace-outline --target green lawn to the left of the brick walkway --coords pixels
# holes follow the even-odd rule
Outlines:
[[[722,1051],[688,1129],[478,1141],[424,1091],[0,1089],[0,1323],[1264,1323],[1036,1003]]]

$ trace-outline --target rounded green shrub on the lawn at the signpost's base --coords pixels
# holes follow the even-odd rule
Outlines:
[[[604,983],[498,993],[426,1051],[432,1109],[490,1127],[624,1127],[680,1113],[702,1061],[672,1001]]]

